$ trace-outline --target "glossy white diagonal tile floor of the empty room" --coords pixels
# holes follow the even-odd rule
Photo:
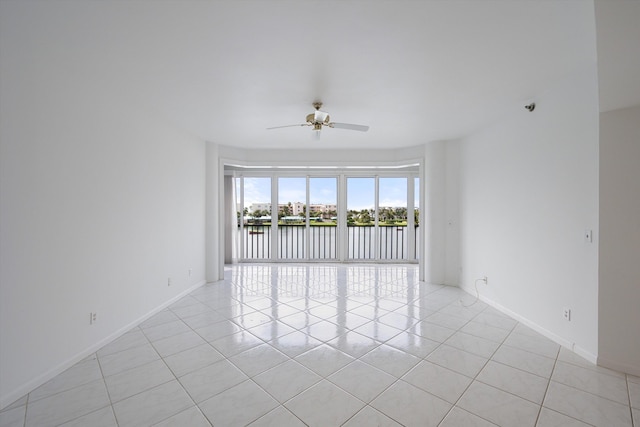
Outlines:
[[[225,276],[3,409],[0,426],[640,427],[640,378],[419,282],[415,266]]]

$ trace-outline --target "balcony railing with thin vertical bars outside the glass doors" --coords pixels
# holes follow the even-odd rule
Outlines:
[[[243,227],[244,259],[271,258],[271,225],[246,225]],[[278,225],[278,259],[307,259],[306,227],[302,225]],[[347,226],[347,256],[349,260],[408,260],[408,227],[381,225],[378,227],[379,244],[376,248],[376,228],[373,225]],[[413,252],[418,253],[418,227],[414,227]],[[338,253],[337,227],[335,225],[311,225],[309,227],[308,259],[335,260]]]

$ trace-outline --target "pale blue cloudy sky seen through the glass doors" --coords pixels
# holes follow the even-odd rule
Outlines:
[[[278,203],[306,202],[306,178],[279,177]],[[337,178],[309,178],[310,204],[337,204]],[[416,180],[417,184],[417,180]],[[383,207],[407,206],[407,178],[379,178],[380,202]],[[419,188],[415,188],[416,205],[419,203]],[[271,202],[271,178],[244,178],[245,206],[252,203]],[[347,209],[373,209],[375,203],[374,178],[347,178]]]

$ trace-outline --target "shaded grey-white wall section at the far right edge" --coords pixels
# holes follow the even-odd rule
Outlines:
[[[640,375],[640,106],[600,114],[598,362]]]

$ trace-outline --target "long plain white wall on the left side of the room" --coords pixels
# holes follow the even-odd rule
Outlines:
[[[5,406],[203,283],[205,145],[2,24]]]

